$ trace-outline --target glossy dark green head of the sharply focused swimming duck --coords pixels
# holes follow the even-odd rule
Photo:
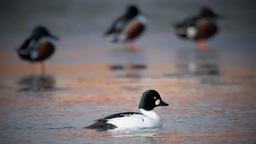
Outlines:
[[[142,94],[142,98],[140,100],[139,109],[143,109],[146,111],[153,110],[158,106],[169,106],[166,104],[158,92],[156,90],[147,90]]]

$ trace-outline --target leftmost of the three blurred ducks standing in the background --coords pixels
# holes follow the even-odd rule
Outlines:
[[[32,33],[22,45],[16,49],[21,60],[31,63],[31,69],[34,71],[33,64],[41,62],[41,74],[44,74],[44,61],[55,52],[57,36],[50,34],[44,26],[36,26]]]

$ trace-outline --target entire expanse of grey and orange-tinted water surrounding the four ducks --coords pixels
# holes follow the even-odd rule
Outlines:
[[[255,142],[255,3],[2,0],[0,143],[128,143],[127,135],[133,143]],[[149,27],[136,42],[141,52],[125,52],[102,38],[128,4],[149,15]],[[226,17],[206,52],[197,52],[194,42],[180,40],[172,28],[200,6]],[[29,63],[14,53],[39,24],[60,37],[43,77],[40,70],[30,74]],[[189,64],[198,61],[212,65],[202,68],[207,72],[191,71]],[[157,110],[162,129],[120,134],[80,129],[108,114],[138,112],[148,89],[170,104]]]

